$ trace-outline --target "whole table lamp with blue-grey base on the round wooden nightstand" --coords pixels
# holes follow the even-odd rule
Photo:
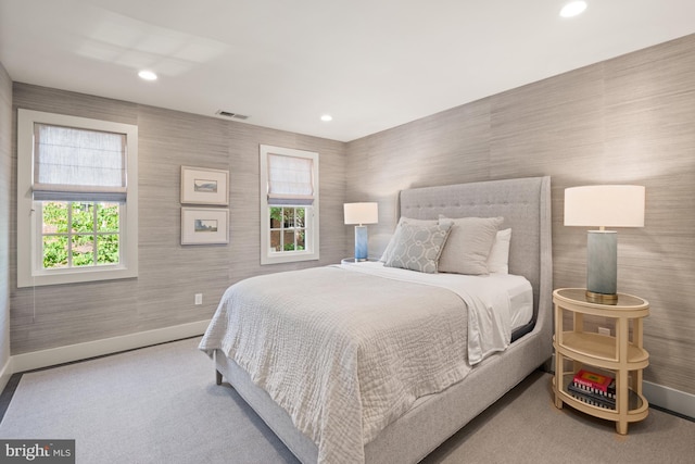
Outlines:
[[[644,187],[604,185],[565,189],[565,225],[598,226],[586,237],[586,299],[618,301],[618,234],[606,227],[644,227]]]

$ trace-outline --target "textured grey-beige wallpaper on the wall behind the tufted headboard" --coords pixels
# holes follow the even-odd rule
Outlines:
[[[695,36],[355,140],[348,160],[348,200],[379,201],[375,255],[400,189],[552,176],[555,288],[585,285],[586,234],[563,225],[565,188],[646,186],[645,227],[618,230],[618,289],[652,304],[645,379],[695,393]]]

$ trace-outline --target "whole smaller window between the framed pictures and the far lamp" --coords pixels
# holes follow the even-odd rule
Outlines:
[[[261,264],[318,260],[318,153],[261,146]]]

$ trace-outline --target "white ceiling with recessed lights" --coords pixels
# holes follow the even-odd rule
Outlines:
[[[571,20],[567,1],[0,0],[0,62],[14,81],[349,141],[695,33],[693,0],[587,0]]]

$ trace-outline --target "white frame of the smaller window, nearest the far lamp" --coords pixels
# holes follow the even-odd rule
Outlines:
[[[283,147],[260,146],[261,161],[261,264],[292,263],[315,261],[319,259],[319,179],[318,153]],[[304,216],[304,250],[270,251],[270,208],[268,203],[268,155],[282,154],[287,156],[306,158],[313,161],[312,175],[314,180],[314,202],[307,204],[282,204],[283,208],[305,208]],[[276,205],[278,206],[278,205]],[[285,229],[282,229],[285,230]]]

